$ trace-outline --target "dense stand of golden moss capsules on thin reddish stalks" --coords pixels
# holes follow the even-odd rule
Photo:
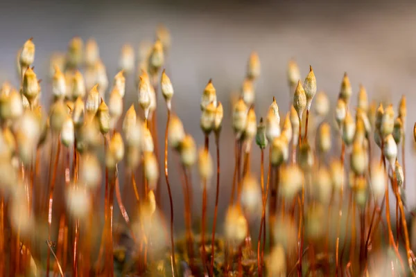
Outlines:
[[[387,270],[393,276],[415,275],[404,199],[404,96],[396,117],[391,104],[369,103],[361,85],[352,107],[345,73],[333,106],[335,120],[329,123],[330,100],[317,93],[312,67],[302,82],[291,60],[287,76],[293,101],[284,120],[276,98],[257,120],[254,100],[261,66],[252,53],[240,95],[231,105],[232,193],[221,200],[229,205],[223,231],[217,234],[224,107],[209,80],[200,102],[205,143],[198,150],[173,112],[173,84],[164,70],[170,47],[164,27],[157,29],[154,44],[141,45],[137,59],[132,46],[123,46],[120,71],[109,86],[98,44],[89,39],[84,46],[82,39],[73,38],[67,53],[51,58],[48,112],[32,67],[33,39],[19,49],[19,89],[10,82],[0,89],[2,276],[51,271],[61,276],[69,271],[73,276],[114,276],[119,271],[125,276],[370,276]],[[139,111],[133,103],[123,114],[126,76],[136,65]],[[163,152],[157,143],[159,91],[167,111]],[[216,166],[209,151],[211,133]],[[180,161],[174,170],[182,177],[183,243],[174,232],[171,190],[179,186],[171,187],[169,150]],[[253,151],[260,152],[260,174],[252,170]],[[198,229],[191,182],[195,166],[202,190]],[[214,175],[214,216],[207,235],[207,189]],[[167,215],[161,210],[163,181]],[[55,189],[63,191],[64,199],[53,201]],[[134,192],[132,207],[124,204],[128,190]],[[118,251],[114,199],[131,251]],[[390,216],[390,202],[396,204],[395,216]],[[103,217],[103,228],[95,230]]]

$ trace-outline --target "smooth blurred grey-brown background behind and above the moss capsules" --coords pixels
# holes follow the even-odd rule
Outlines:
[[[293,57],[300,66],[302,78],[309,71],[309,64],[313,66],[318,90],[326,91],[332,103],[345,71],[354,92],[362,83],[370,99],[388,98],[397,105],[405,94],[408,99],[406,150],[411,152],[416,116],[413,110],[416,104],[415,12],[416,4],[398,1],[7,1],[1,3],[0,80],[18,84],[16,53],[29,37],[33,37],[36,44],[37,75],[47,80],[51,53],[66,51],[69,40],[80,36],[84,41],[89,37],[96,39],[112,82],[123,44],[132,44],[138,51],[140,42],[153,41],[157,24],[162,23],[172,36],[166,71],[175,89],[173,110],[198,145],[203,143],[199,101],[209,78],[217,89],[218,100],[225,105],[225,114],[229,115],[230,93],[239,91],[248,57],[252,51],[257,51],[261,60],[261,77],[256,88],[258,117],[266,114],[272,96],[277,98],[281,116],[286,114],[290,99],[286,66]],[[135,75],[128,76],[128,103],[137,102],[134,80]],[[42,88],[46,104],[51,98],[49,82],[42,84]],[[355,104],[356,95],[352,98]],[[162,149],[166,124],[162,97],[158,104]],[[329,120],[332,122],[332,118]],[[211,145],[212,151],[213,137]],[[224,211],[234,168],[234,137],[228,118],[220,145],[220,211]],[[214,151],[211,153],[214,155]],[[375,154],[378,157],[379,150],[375,150]],[[410,153],[406,159],[406,195],[413,208],[416,204],[413,185],[416,172],[412,168],[415,159]],[[171,184],[175,221],[178,222],[175,225],[183,226],[180,224],[183,222],[183,196],[175,161],[171,152]],[[254,147],[252,169],[259,173],[257,161],[259,150]],[[194,203],[200,203],[202,193],[197,172],[193,172],[193,187]],[[167,211],[163,176],[161,189],[164,211]],[[214,193],[213,181],[208,195],[210,215],[214,209]],[[132,202],[130,198],[128,201]],[[198,215],[199,210],[198,205],[195,209]]]

